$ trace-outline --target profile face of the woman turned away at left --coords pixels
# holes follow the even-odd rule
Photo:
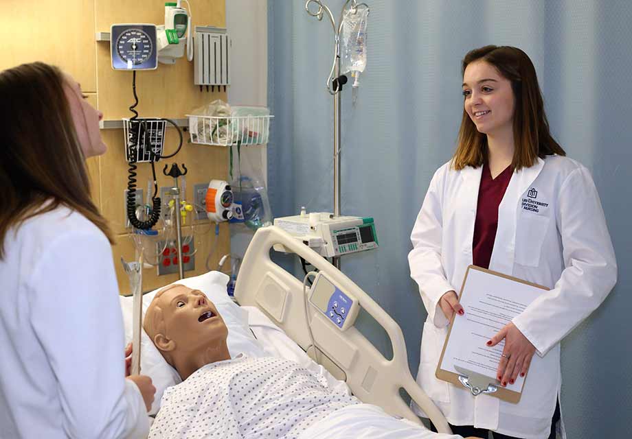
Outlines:
[[[84,155],[86,158],[100,156],[107,149],[99,130],[103,113],[88,103],[80,85],[70,75],[65,75],[64,91]]]

